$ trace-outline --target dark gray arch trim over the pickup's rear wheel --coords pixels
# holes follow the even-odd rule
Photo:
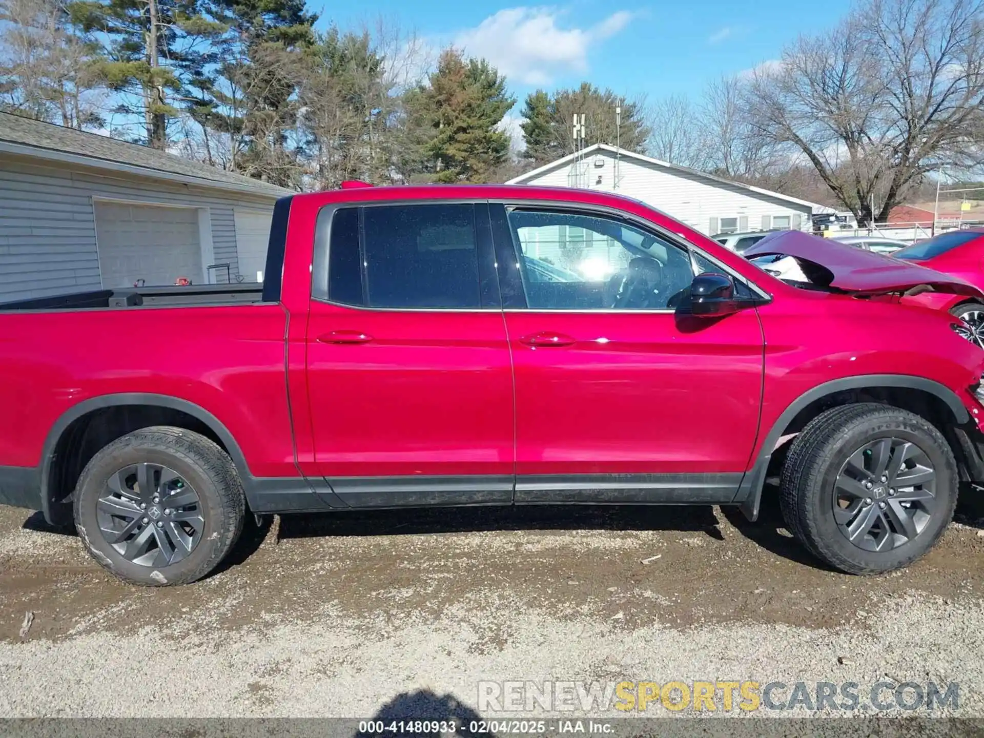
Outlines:
[[[44,514],[44,519],[46,521],[49,523],[52,522],[52,500],[48,486],[51,478],[51,470],[55,461],[55,449],[58,446],[58,442],[64,436],[65,431],[68,430],[69,426],[73,422],[84,415],[89,414],[93,410],[101,410],[107,407],[121,407],[126,405],[152,405],[154,407],[163,407],[170,410],[179,410],[191,415],[197,420],[202,421],[209,427],[210,430],[213,431],[213,433],[215,433],[215,436],[218,437],[218,439],[222,442],[222,445],[226,448],[226,450],[228,450],[229,457],[232,459],[233,464],[235,464],[236,469],[239,471],[239,476],[242,479],[243,486],[247,490],[249,489],[250,481],[253,476],[250,473],[249,465],[246,463],[246,458],[243,456],[242,450],[239,448],[239,444],[236,443],[235,437],[229,432],[229,429],[225,427],[225,424],[209,412],[209,410],[205,409],[201,405],[195,404],[190,400],[182,400],[170,395],[155,395],[153,393],[119,393],[115,395],[100,395],[88,400],[83,400],[65,410],[58,417],[58,419],[55,420],[44,439],[39,471],[41,486],[41,512]]]

